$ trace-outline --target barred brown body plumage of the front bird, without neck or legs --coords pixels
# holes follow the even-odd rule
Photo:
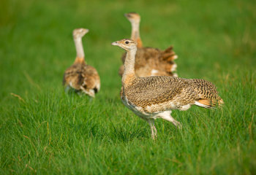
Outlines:
[[[140,107],[144,112],[164,112],[181,109],[195,101],[207,100],[208,107],[215,106],[222,99],[215,86],[204,79],[182,79],[178,77],[156,76],[135,77],[129,86],[123,86],[121,98],[129,104]],[[149,106],[155,106],[154,109]]]

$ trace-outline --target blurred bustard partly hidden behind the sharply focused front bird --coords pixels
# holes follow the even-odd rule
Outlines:
[[[124,16],[132,24],[131,39],[138,43],[138,51],[136,54],[135,74],[138,77],[148,77],[156,75],[166,75],[178,77],[176,74],[177,64],[174,62],[178,55],[173,51],[173,47],[166,50],[159,50],[153,47],[143,47],[140,39],[140,15],[135,12],[129,12]],[[124,64],[126,53],[122,55],[121,61]],[[124,65],[121,65],[118,74],[122,76],[124,73]]]

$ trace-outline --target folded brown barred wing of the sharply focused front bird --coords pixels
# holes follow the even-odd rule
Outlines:
[[[130,90],[127,88],[125,92],[132,104],[151,106],[172,101],[186,90],[191,90],[191,88],[183,79],[161,76],[139,78],[133,82],[132,88]]]

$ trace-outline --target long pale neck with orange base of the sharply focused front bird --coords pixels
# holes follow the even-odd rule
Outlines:
[[[127,57],[124,61],[124,74],[122,77],[123,87],[131,85],[132,80],[136,78],[135,75],[135,55],[137,48],[129,50],[127,52]]]

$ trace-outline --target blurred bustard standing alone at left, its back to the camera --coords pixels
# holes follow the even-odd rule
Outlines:
[[[63,85],[66,92],[74,89],[80,94],[85,93],[94,98],[100,89],[100,79],[97,70],[85,61],[82,37],[88,32],[87,28],[75,28],[72,32],[77,56],[72,66],[64,72]]]

